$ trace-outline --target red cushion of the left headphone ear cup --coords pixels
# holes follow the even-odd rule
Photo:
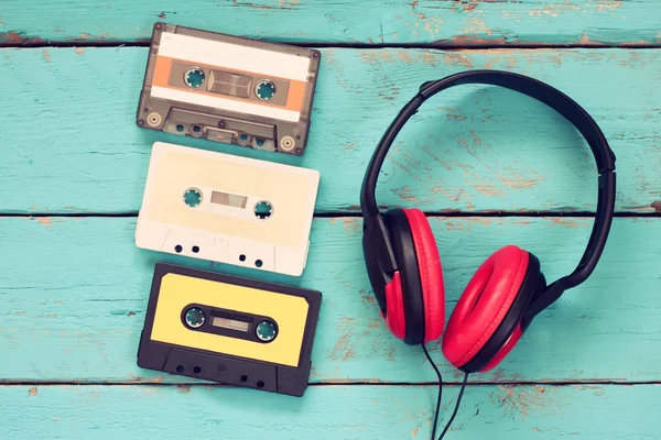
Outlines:
[[[432,228],[420,209],[403,209],[415,246],[424,301],[424,343],[441,338],[445,323],[443,268]]]

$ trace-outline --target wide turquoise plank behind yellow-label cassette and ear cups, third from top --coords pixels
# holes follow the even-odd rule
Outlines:
[[[432,381],[418,346],[395,340],[378,315],[364,270],[360,220],[317,219],[302,278],[214,270],[323,292],[312,382]],[[448,314],[463,286],[495,250],[534,252],[553,280],[572,271],[588,219],[433,218]],[[189,382],[136,365],[156,261],[209,268],[203,261],[144,252],[134,219],[0,218],[0,380]],[[511,356],[479,381],[660,381],[659,219],[616,219],[594,276],[543,312]],[[434,359],[446,377],[459,373]],[[1,413],[1,411],[0,411]]]

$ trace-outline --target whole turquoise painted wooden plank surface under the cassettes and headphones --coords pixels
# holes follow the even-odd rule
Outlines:
[[[303,157],[138,129],[155,21],[321,47]],[[618,157],[617,216],[594,276],[510,358],[472,377],[448,439],[661,439],[661,2],[657,0],[24,0],[0,4],[0,438],[426,439],[436,387],[378,316],[361,261],[358,188],[420,84],[498,68],[562,89]],[[133,244],[151,144],[319,169],[301,278]],[[425,105],[380,180],[384,206],[430,217],[447,306],[513,242],[550,278],[574,267],[596,206],[586,144],[552,111],[489,87]],[[303,398],[136,365],[154,263],[319,289]],[[442,358],[445,398],[460,375]]]

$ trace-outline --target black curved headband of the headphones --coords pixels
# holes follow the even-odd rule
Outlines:
[[[360,191],[360,208],[365,219],[365,229],[366,232],[369,231],[373,244],[379,250],[379,263],[382,271],[384,273],[394,272],[397,270],[397,262],[375,198],[377,179],[381,166],[400,130],[418,112],[418,109],[424,101],[442,90],[465,84],[503,87],[527,95],[551,107],[567,119],[585,138],[597,165],[599,175],[597,213],[583,257],[572,274],[560,278],[549,286],[539,298],[532,299],[529,312],[524,317],[524,324],[527,324],[530,323],[539,311],[557,299],[564,290],[577,286],[592,274],[606,245],[606,238],[610,230],[615,210],[615,154],[595,120],[578,103],[562,91],[537,79],[500,70],[465,72],[443,79],[424,82],[415,97],[400,110],[381,138],[370,160]]]

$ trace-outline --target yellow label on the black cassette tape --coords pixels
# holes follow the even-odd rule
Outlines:
[[[250,301],[247,301],[247,298],[250,298]],[[221,305],[225,312],[216,308],[217,305]],[[161,280],[151,339],[279,365],[296,366],[300,361],[308,307],[305,298],[300,296],[219,284],[209,279],[170,273]],[[237,338],[231,331],[228,334],[201,331],[202,328],[195,329],[181,322],[182,314],[185,315],[189,310],[201,310],[205,316],[203,327],[209,329],[235,329],[235,332],[240,332],[241,322],[243,324],[250,322],[251,326],[252,321],[256,321],[254,324],[277,322],[278,337],[269,343],[259,343],[256,340]],[[260,318],[232,320],[228,310]],[[174,323],[173,318],[180,322]],[[185,321],[185,317],[183,320]],[[253,331],[252,334],[256,332]]]

